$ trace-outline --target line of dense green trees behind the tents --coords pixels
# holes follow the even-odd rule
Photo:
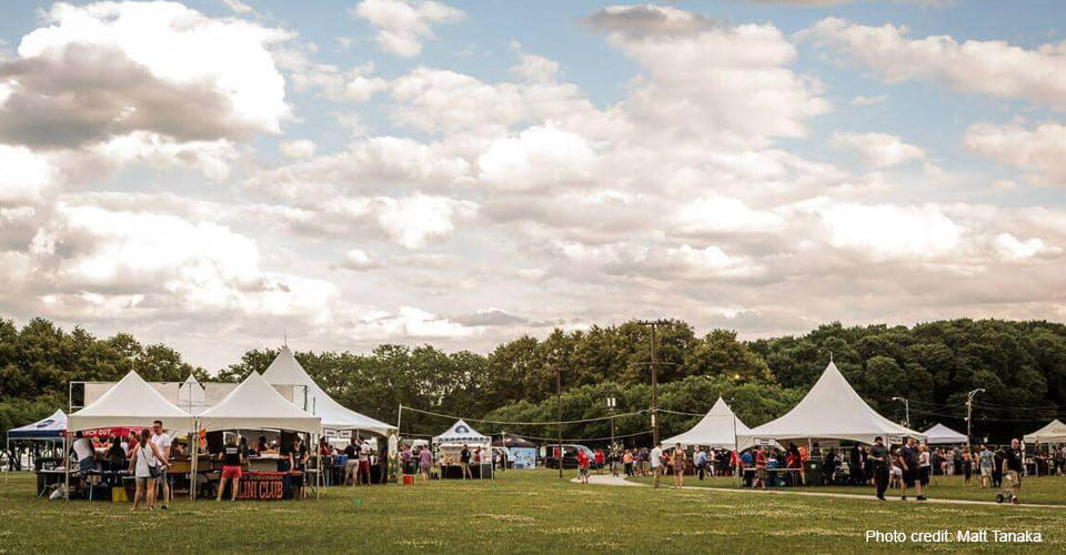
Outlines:
[[[974,401],[974,435],[1000,441],[1027,433],[1066,404],[1066,326],[1042,321],[952,320],[913,327],[825,324],[809,333],[741,341],[728,330],[698,335],[685,322],[656,331],[662,435],[678,433],[721,395],[750,426],[784,414],[814,384],[832,357],[856,391],[885,416],[911,424],[936,422],[965,433],[966,393]],[[341,403],[385,422],[398,407],[503,422],[554,421],[555,373],[565,421],[651,406],[650,330],[636,322],[554,330],[522,336],[487,354],[445,352],[432,345],[380,345],[370,353],[296,352],[308,372]],[[149,381],[237,381],[262,372],[275,350],[252,350],[224,369],[208,372],[163,344],[142,345],[130,334],[97,339],[80,327],[64,331],[43,319],[21,329],[0,320],[0,430],[68,405],[71,381],[114,381],[131,367]],[[213,377],[211,374],[214,374]],[[665,412],[671,411],[671,412]],[[433,435],[451,421],[405,411],[402,431]],[[554,437],[555,426],[471,422],[482,433],[503,431]],[[616,434],[647,444],[650,415],[616,418]],[[609,421],[566,425],[566,438],[610,435]],[[592,442],[596,443],[596,442]]]

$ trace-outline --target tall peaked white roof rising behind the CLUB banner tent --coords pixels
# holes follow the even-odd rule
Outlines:
[[[306,411],[322,418],[323,428],[366,430],[381,435],[389,435],[396,430],[392,424],[360,414],[334,401],[308,375],[296,357],[292,355],[289,345],[281,347],[281,352],[263,372],[263,379],[271,385],[295,385],[300,386],[300,390],[306,387]],[[303,408],[303,391],[293,392],[293,403]]]

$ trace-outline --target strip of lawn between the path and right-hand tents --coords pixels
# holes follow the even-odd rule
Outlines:
[[[942,500],[967,500],[967,501],[995,501],[996,493],[998,490],[982,490],[977,487],[977,478],[974,478],[972,486],[966,487],[963,485],[962,476],[933,476],[934,483],[932,487],[926,492],[928,497],[937,497]],[[638,482],[643,484],[651,484],[652,478],[650,477],[633,477],[630,478],[633,482]],[[673,484],[673,476],[663,477],[662,483],[670,485]],[[714,477],[710,480],[696,480],[695,476],[685,476],[686,486],[701,486],[701,487],[735,487],[735,483],[731,477]],[[783,492],[787,491],[803,491],[803,492],[826,492],[826,493],[849,493],[858,495],[873,495],[874,488],[869,487],[859,487],[859,486],[818,486],[818,487],[776,487],[772,490],[778,490]],[[908,490],[907,495],[909,497],[914,496],[914,490]],[[898,490],[889,490],[886,494],[888,497],[898,497]],[[1066,476],[1040,476],[1040,477],[1028,477],[1022,483],[1022,495],[1019,495],[1024,503],[1038,503],[1046,505],[1066,505]]]

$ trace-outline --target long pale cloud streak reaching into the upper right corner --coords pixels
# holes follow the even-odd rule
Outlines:
[[[1026,50],[1002,40],[959,43],[951,36],[908,39],[906,33],[903,26],[869,27],[826,18],[798,37],[836,49],[886,82],[933,81],[1066,111],[1066,42]]]

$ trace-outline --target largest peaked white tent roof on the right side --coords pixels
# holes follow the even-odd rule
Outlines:
[[[752,428],[753,440],[844,440],[874,443],[903,436],[924,437],[877,414],[855,393],[836,364],[829,362],[803,401],[784,416]]]

